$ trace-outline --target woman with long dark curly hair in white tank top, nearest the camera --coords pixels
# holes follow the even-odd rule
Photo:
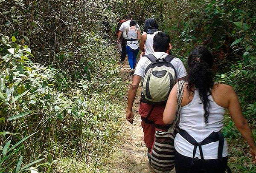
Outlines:
[[[199,46],[188,58],[188,77],[180,109],[180,132],[175,137],[176,173],[224,173],[227,170],[227,142],[222,133],[225,109],[236,128],[248,142],[253,160],[256,145],[250,127],[242,115],[239,99],[229,85],[214,82],[213,57]],[[163,113],[163,122],[171,124],[177,108],[177,85],[172,88]]]

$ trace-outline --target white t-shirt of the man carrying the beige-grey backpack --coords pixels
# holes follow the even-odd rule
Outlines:
[[[165,52],[154,52],[153,55],[157,58],[165,58],[168,54]],[[148,67],[148,65],[151,64],[151,61],[148,60],[147,57],[142,57],[140,58],[139,62],[137,63],[136,69],[134,71],[134,75],[138,75],[140,77],[144,77],[145,75],[145,70]],[[175,68],[177,79],[180,79],[182,77],[185,77],[186,74],[186,69],[183,65],[183,62],[179,58],[174,58],[171,61],[171,64]]]

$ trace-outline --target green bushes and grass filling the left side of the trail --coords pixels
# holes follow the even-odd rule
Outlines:
[[[108,169],[125,94],[108,4],[0,3],[0,172]]]

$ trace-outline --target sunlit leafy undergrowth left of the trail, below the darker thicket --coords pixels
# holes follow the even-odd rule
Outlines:
[[[82,161],[90,172],[110,155],[118,143],[118,102],[125,87],[113,47],[96,38],[89,51],[97,52],[83,60],[90,71],[74,80],[68,71],[33,63],[28,46],[2,35],[0,172],[22,172],[30,166],[52,172],[56,165],[55,171],[63,172],[69,158]],[[81,53],[87,49],[82,45]]]

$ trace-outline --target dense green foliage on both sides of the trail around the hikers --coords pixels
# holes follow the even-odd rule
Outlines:
[[[128,13],[140,26],[156,18],[184,62],[209,47],[256,134],[255,11],[255,0],[0,0],[0,172],[110,171],[126,91],[113,31]],[[225,124],[230,167],[256,172]]]

